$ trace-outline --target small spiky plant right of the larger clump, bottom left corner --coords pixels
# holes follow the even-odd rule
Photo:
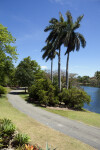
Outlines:
[[[30,137],[26,134],[18,133],[14,138],[14,145],[15,146],[22,146],[24,144],[28,144],[30,141]]]

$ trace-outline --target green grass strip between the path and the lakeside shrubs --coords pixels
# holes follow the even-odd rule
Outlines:
[[[20,95],[23,99],[27,100],[28,94],[21,94]],[[83,111],[74,111],[70,109],[66,110],[57,110],[57,109],[50,109],[50,108],[43,108],[49,112],[61,115],[63,117],[67,117],[73,120],[77,120],[79,122],[83,122],[85,124],[100,127],[100,114],[93,113],[87,110]]]

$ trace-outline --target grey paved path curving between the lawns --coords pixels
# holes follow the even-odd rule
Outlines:
[[[100,128],[85,125],[83,123],[70,120],[35,107],[27,103],[17,95],[18,90],[13,90],[8,94],[8,101],[21,112],[34,118],[42,124],[45,124],[66,135],[74,137],[94,148],[100,150]]]

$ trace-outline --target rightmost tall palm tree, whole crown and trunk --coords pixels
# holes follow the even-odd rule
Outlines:
[[[75,32],[76,29],[80,27],[80,21],[83,18],[79,16],[76,22],[73,22],[71,13],[68,11],[66,13],[67,21],[62,24],[62,36],[64,46],[67,47],[65,55],[67,54],[67,63],[66,63],[66,87],[68,89],[68,66],[69,66],[69,53],[71,51],[79,51],[80,45],[84,48],[86,46],[85,38],[82,34]]]

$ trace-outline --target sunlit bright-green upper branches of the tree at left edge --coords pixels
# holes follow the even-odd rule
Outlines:
[[[7,30],[7,27],[4,27],[0,24],[0,51],[6,54],[6,56],[10,56],[13,59],[16,59],[17,52],[16,47],[11,46],[10,44],[14,44],[16,39],[11,35],[11,33]]]

